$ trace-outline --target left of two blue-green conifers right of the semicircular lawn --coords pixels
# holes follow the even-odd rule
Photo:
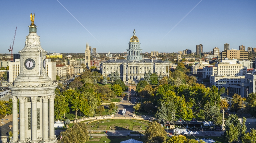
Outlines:
[[[155,117],[160,120],[162,123],[167,120],[167,108],[164,100],[161,101],[160,106],[157,108]]]

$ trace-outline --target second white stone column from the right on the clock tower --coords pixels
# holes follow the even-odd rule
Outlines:
[[[43,96],[43,140],[49,140],[49,116],[48,116],[48,100],[49,96]]]

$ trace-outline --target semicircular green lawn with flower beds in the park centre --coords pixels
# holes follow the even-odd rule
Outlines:
[[[115,128],[114,130],[145,130],[150,123],[149,122],[143,122],[138,120],[130,120],[130,119],[109,119],[110,122],[107,122],[107,120],[104,120],[99,122],[100,129],[99,130],[111,130]],[[135,121],[135,122],[134,122]],[[142,125],[142,129],[139,129]],[[95,127],[91,127],[95,126]],[[111,127],[112,126],[112,127]],[[115,127],[113,127],[115,126]],[[129,126],[129,127],[128,127]],[[110,128],[111,127],[111,128]],[[127,128],[128,127],[128,128]],[[98,128],[98,122],[93,122],[89,125],[87,125],[88,130],[97,130]]]

